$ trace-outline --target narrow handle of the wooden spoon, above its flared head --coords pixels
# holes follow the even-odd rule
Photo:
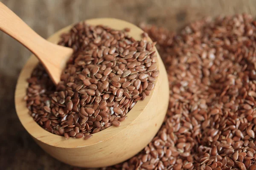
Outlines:
[[[43,53],[44,38],[33,31],[12,10],[0,2],[0,30],[19,41],[36,56]]]

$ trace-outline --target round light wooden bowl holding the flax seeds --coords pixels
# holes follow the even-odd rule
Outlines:
[[[143,33],[137,26],[117,19],[92,19],[87,20],[87,23],[103,24],[117,30],[131,28],[129,34],[136,40],[141,40],[140,35]],[[60,35],[69,31],[71,27],[61,29],[48,40],[57,43]],[[135,32],[138,29],[140,34]],[[105,167],[125,161],[140,152],[154,138],[166,115],[169,104],[169,83],[163,62],[158,53],[157,55],[160,74],[150,96],[144,101],[137,102],[127,114],[128,118],[121,122],[121,126],[111,126],[93,134],[88,140],[83,138],[66,140],[63,136],[49,133],[29,115],[23,98],[28,87],[26,79],[38,64],[38,59],[32,55],[20,73],[15,91],[15,107],[20,122],[41,148],[64,163],[78,167]]]

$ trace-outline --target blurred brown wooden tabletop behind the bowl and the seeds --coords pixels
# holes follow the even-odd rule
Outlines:
[[[219,14],[256,17],[256,0],[0,0],[39,35],[47,38],[71,23],[116,17],[131,23],[154,23],[170,30]],[[0,32],[0,169],[70,170],[45,153],[20,124],[14,107],[17,76],[30,56],[18,42]]]

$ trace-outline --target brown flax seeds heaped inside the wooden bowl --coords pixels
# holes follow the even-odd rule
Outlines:
[[[41,127],[66,139],[90,139],[120,126],[150,95],[159,74],[155,43],[125,31],[83,22],[61,35],[58,44],[74,51],[61,82],[55,86],[41,64],[28,79],[27,108]]]

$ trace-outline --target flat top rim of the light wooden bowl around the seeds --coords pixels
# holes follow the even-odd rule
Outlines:
[[[104,22],[103,22],[104,21]],[[89,19],[85,20],[86,23],[90,25],[99,25],[99,23],[106,23],[105,26],[110,26],[111,28],[122,30],[124,28],[131,28],[131,31],[128,32],[128,34],[133,33],[133,28],[137,28],[140,35],[138,36],[132,36],[135,40],[141,40],[141,34],[144,32],[139,27],[135,26],[132,23],[128,23],[124,20],[119,20],[115,18],[96,18],[96,19]],[[119,23],[115,25],[114,23]],[[76,24],[76,23],[74,23]],[[60,29],[59,31],[52,34],[47,40],[52,43],[57,43],[60,40],[60,35],[62,33],[65,33],[74,26],[74,24],[71,24],[67,27],[64,27]],[[148,37],[148,40],[152,42],[152,40]],[[158,54],[158,51],[156,47],[154,47],[156,54],[157,54],[157,68],[159,68],[159,62],[160,62],[160,55]],[[158,78],[155,82],[154,89],[151,90],[151,94],[145,98],[143,101],[138,101],[136,105],[128,112],[127,119],[122,122],[121,126],[119,127],[108,127],[105,130],[102,130],[98,133],[93,134],[93,137],[89,140],[84,140],[84,138],[81,139],[75,139],[70,137],[70,139],[65,139],[63,136],[58,136],[56,134],[50,133],[47,130],[45,130],[43,127],[38,125],[35,120],[32,118],[31,115],[29,115],[29,111],[26,108],[26,101],[24,100],[24,97],[26,96],[26,88],[28,87],[28,83],[26,82],[26,79],[30,77],[32,70],[35,68],[35,66],[38,64],[38,59],[35,57],[34,54],[32,54],[29,57],[29,60],[26,62],[26,64],[23,66],[20,75],[17,80],[17,85],[15,88],[15,109],[17,116],[23,125],[23,127],[26,129],[26,131],[34,138],[37,139],[40,142],[43,142],[45,144],[54,146],[54,147],[62,147],[62,148],[78,148],[78,147],[87,147],[94,144],[98,144],[100,142],[104,142],[105,140],[108,140],[109,138],[112,138],[116,136],[118,133],[122,133],[123,130],[129,127],[132,122],[134,122],[137,117],[143,113],[144,109],[147,107],[148,102],[151,100],[152,95],[155,92],[155,87],[158,85]],[[161,71],[160,71],[161,74]],[[102,136],[103,139],[102,139]]]

